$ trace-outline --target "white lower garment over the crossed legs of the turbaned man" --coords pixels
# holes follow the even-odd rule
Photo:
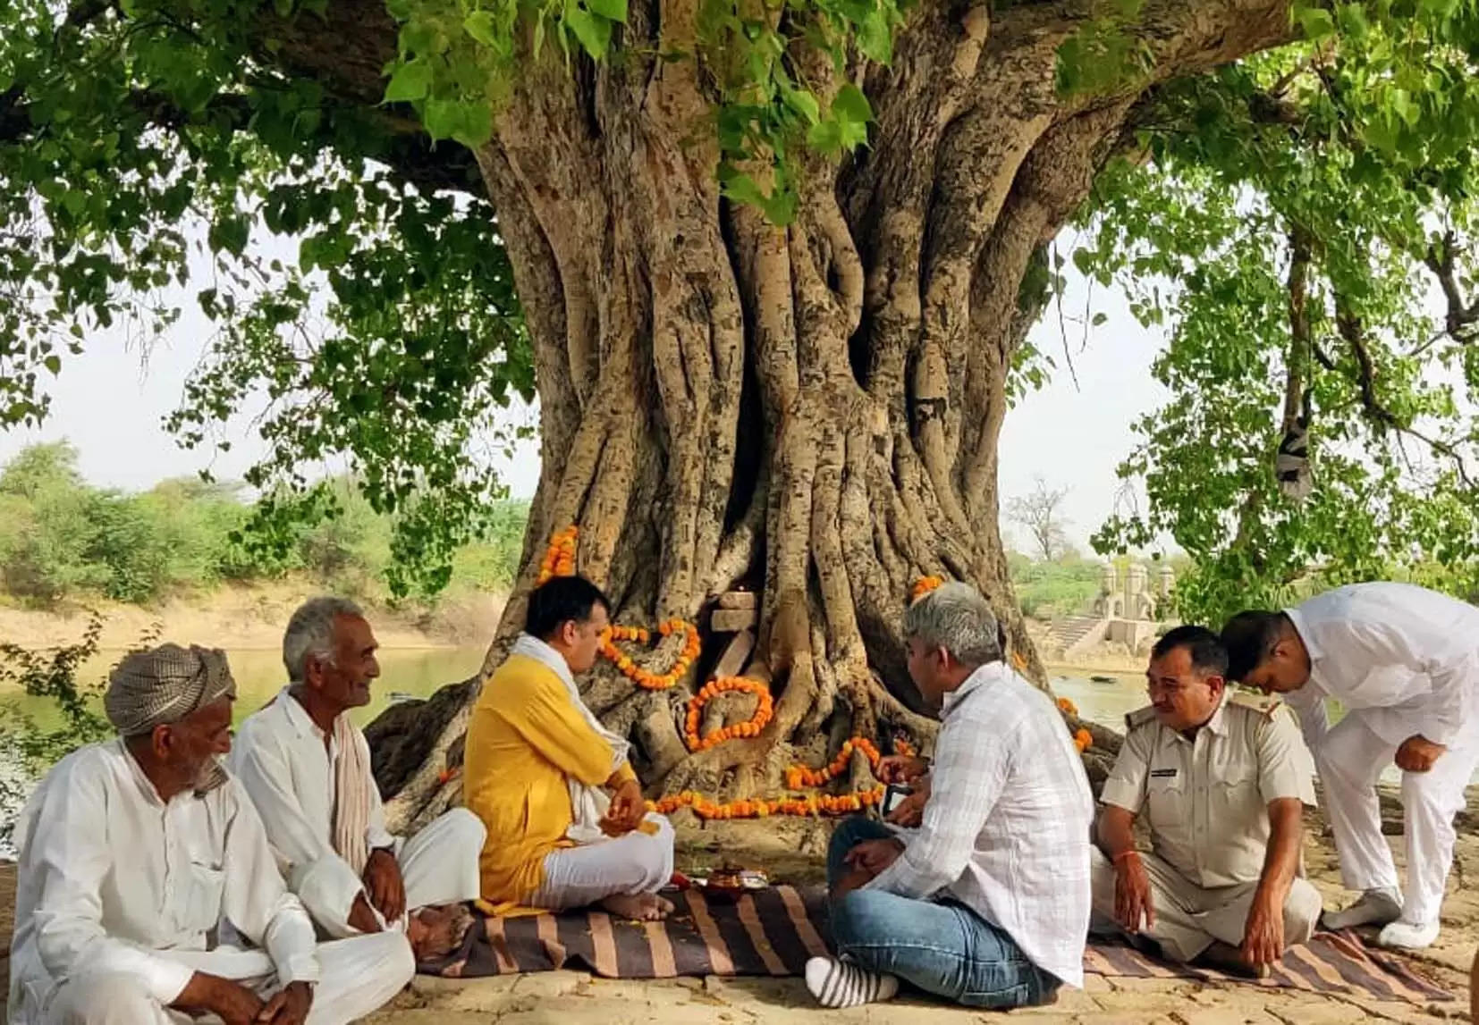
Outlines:
[[[198,972],[235,979],[263,1000],[281,988],[272,961],[262,951],[200,953],[191,954],[189,963]],[[319,944],[318,966],[321,975],[314,987],[308,1025],[348,1025],[371,1015],[416,973],[411,945],[396,932]],[[219,1019],[170,1010],[151,997],[138,978],[115,972],[83,973],[62,982],[40,1021],[47,1025],[192,1025]]]

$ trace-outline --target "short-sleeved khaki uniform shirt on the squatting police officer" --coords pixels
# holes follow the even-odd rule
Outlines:
[[[1195,740],[1162,726],[1154,708],[1130,713],[1099,797],[1136,815],[1146,808],[1155,853],[1208,889],[1263,873],[1269,802],[1315,803],[1290,710],[1253,701],[1225,700]]]

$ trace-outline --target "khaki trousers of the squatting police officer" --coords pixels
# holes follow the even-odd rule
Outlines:
[[[1242,944],[1248,910],[1257,882],[1236,886],[1198,886],[1155,855],[1140,855],[1151,879],[1151,907],[1155,924],[1139,935],[1161,945],[1173,961],[1191,961],[1211,947],[1214,939],[1231,947]],[[1114,913],[1115,868],[1099,848],[1090,853],[1094,916],[1092,932],[1118,932]],[[1307,880],[1296,879],[1284,899],[1284,944],[1306,942],[1319,921],[1321,898]]]

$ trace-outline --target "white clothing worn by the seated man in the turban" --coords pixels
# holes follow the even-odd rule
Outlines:
[[[123,741],[62,759],[16,825],[9,1021],[173,1021],[195,970],[260,991],[317,982],[315,1025],[410,981],[410,947],[318,947],[234,779],[167,803]],[[376,939],[376,938],[370,938]],[[219,942],[217,942],[219,941]],[[246,941],[246,942],[243,942]]]

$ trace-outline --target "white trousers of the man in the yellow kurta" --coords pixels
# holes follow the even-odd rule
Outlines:
[[[580,848],[544,855],[544,883],[529,905],[563,911],[583,908],[615,895],[657,893],[673,877],[673,827],[661,815],[648,815],[657,833],[627,833]]]

